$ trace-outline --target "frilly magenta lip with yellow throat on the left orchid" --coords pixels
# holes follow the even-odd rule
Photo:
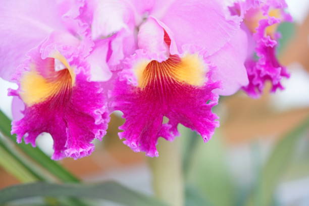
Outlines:
[[[93,151],[91,141],[105,135],[109,113],[79,48],[54,40],[32,49],[15,75],[19,88],[10,95],[19,96],[25,109],[23,118],[13,121],[12,134],[35,146],[37,136],[48,132],[54,139],[52,159],[82,158]]]

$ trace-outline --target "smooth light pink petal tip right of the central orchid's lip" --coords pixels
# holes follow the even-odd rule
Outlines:
[[[238,29],[230,42],[209,57],[209,60],[217,67],[213,79],[221,81],[222,87],[214,92],[220,95],[231,95],[248,84],[244,66],[246,57],[247,37],[244,31]]]

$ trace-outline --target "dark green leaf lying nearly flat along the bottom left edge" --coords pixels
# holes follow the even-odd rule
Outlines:
[[[116,182],[100,184],[53,184],[31,183],[15,185],[0,190],[0,204],[26,197],[78,197],[105,199],[124,205],[165,205],[152,197],[130,190]]]

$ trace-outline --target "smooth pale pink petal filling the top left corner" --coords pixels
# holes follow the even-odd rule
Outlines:
[[[0,4],[0,77],[10,80],[25,54],[54,30],[65,30],[57,5],[48,0]]]

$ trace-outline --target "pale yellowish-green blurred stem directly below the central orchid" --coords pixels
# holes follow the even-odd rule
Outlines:
[[[159,139],[159,158],[148,158],[155,195],[169,205],[184,205],[184,185],[179,138],[174,142]]]

